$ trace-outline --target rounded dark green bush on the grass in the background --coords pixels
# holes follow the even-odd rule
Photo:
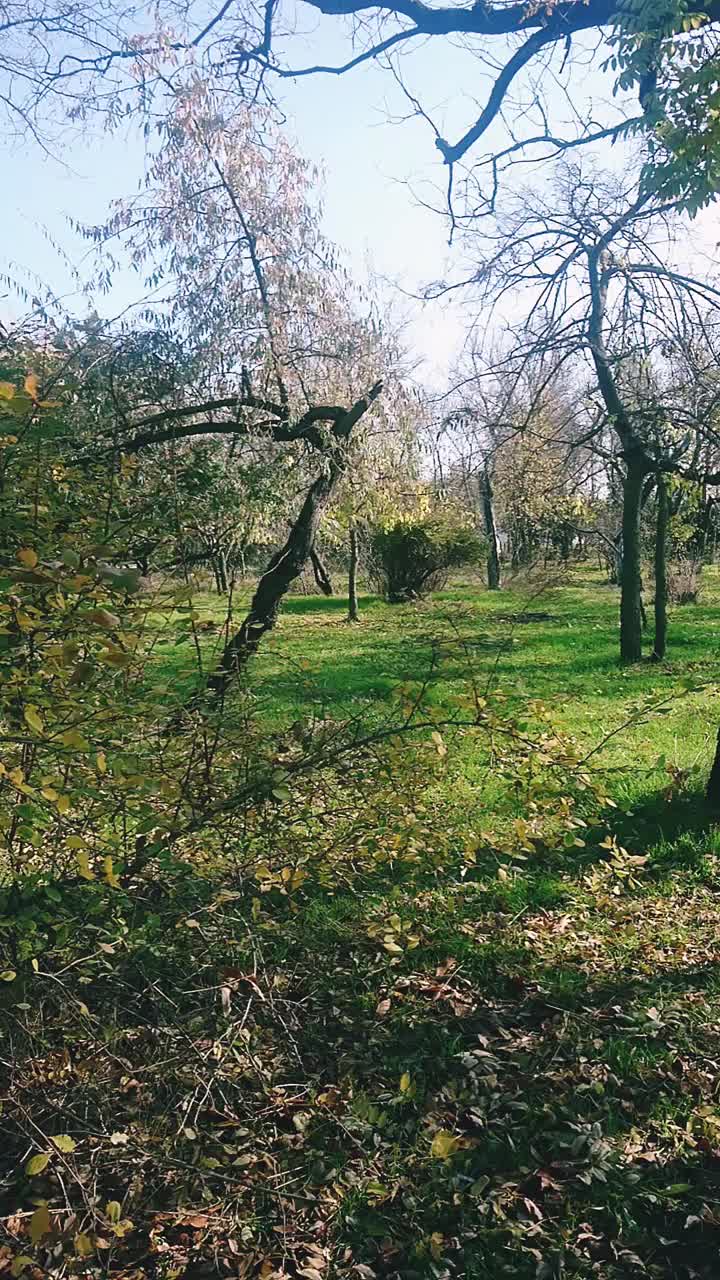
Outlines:
[[[370,575],[391,604],[437,590],[450,570],[479,561],[483,550],[471,529],[437,516],[377,527],[369,541]]]

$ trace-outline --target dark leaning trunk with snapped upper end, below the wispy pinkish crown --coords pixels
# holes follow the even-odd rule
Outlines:
[[[284,547],[273,556],[258,582],[250,612],[240,631],[236,631],[227,641],[220,660],[208,680],[206,691],[215,700],[222,701],[232,681],[258,652],[263,636],[274,627],[281,602],[291,584],[300,577],[310,558],[323,512],[347,467],[347,442],[352,429],[380,394],[380,390],[382,383],[375,383],[368,396],[356,401],[352,408],[342,413],[334,424],[332,452],[325,456],[320,475],[307,490]],[[196,705],[197,696],[191,700],[190,708]]]

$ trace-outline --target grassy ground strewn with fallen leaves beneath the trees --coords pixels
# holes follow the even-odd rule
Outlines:
[[[626,669],[591,571],[361,604],[348,626],[342,599],[288,602],[260,721],[470,682],[605,741],[611,804],[577,847],[502,858],[502,769],[459,733],[411,858],[20,904],[53,941],[0,991],[0,1274],[716,1280],[720,579],[671,612],[666,663]],[[155,660],[182,685],[176,639]]]

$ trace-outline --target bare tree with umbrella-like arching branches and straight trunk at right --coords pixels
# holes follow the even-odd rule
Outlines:
[[[711,282],[665,265],[675,212],[675,201],[632,180],[601,179],[568,164],[550,195],[525,189],[498,216],[468,278],[483,314],[525,300],[523,321],[509,326],[515,344],[506,371],[521,375],[541,360],[548,379],[578,364],[592,371],[603,412],[583,443],[597,442],[609,421],[623,460],[624,662],[642,655],[641,512],[648,477],[682,470],[693,443],[662,399],[635,396],[633,374],[638,364],[665,358],[720,300]]]

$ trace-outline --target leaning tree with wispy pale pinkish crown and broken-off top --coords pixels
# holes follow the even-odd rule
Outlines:
[[[115,453],[177,451],[213,435],[232,442],[242,465],[249,456],[274,465],[281,488],[292,472],[299,513],[210,677],[217,698],[311,557],[378,375],[388,410],[377,429],[392,412],[396,343],[320,234],[315,182],[266,113],[243,108],[225,122],[197,83],[178,95],[138,196],[87,229],[106,270],[129,256],[152,292],[146,316],[192,352],[196,371],[155,412],[127,422]]]

